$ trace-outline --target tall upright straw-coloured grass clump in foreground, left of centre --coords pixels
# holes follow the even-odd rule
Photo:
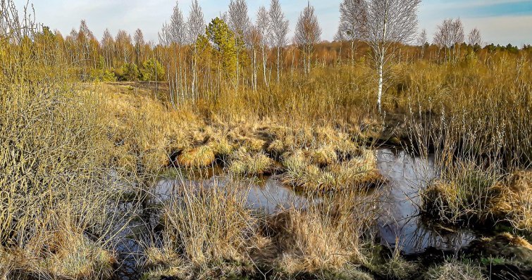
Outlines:
[[[187,276],[240,274],[249,263],[246,244],[256,230],[245,192],[240,186],[218,184],[182,187],[182,196],[163,206],[165,249],[152,250],[151,262]]]

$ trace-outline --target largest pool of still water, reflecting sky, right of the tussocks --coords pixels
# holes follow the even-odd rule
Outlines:
[[[437,175],[433,157],[413,158],[404,151],[378,150],[377,162],[388,178],[381,198],[385,215],[378,220],[384,245],[400,246],[404,253],[412,254],[429,247],[457,250],[475,239],[469,231],[441,232],[421,221],[419,191]]]

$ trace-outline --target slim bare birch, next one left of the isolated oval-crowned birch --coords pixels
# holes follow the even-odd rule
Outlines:
[[[288,20],[280,7],[279,0],[271,0],[270,11],[268,11],[270,19],[270,41],[271,45],[276,49],[277,53],[277,82],[280,82],[280,55],[287,42],[288,35]]]

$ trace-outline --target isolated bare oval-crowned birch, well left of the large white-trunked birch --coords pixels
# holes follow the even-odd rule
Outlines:
[[[318,17],[314,13],[314,7],[308,2],[295,27],[295,42],[301,47],[303,53],[304,71],[309,74],[311,70],[311,58],[314,52],[314,44],[320,42],[321,27]]]

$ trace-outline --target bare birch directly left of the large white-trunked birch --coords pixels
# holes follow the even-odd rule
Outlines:
[[[355,42],[364,37],[367,21],[367,2],[365,0],[343,0],[340,3],[340,25],[336,38],[351,42],[351,63],[354,64]]]

